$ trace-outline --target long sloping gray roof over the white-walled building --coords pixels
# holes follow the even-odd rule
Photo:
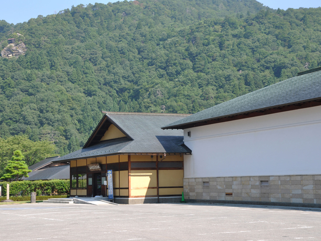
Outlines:
[[[320,99],[321,71],[304,73],[179,119],[162,129],[185,129],[185,125],[211,119]]]

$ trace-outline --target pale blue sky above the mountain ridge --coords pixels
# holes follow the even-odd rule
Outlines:
[[[183,0],[184,1],[184,0]],[[44,1],[44,0],[15,0],[2,1],[2,11],[0,12],[0,20],[5,20],[8,23],[23,23],[27,22],[31,18],[37,18],[38,15],[51,15],[55,11],[58,13],[64,9],[71,9],[71,6],[77,6],[79,4],[87,5],[89,3],[94,4],[99,2],[107,4],[109,2],[117,2],[115,0],[55,0],[55,1]],[[272,9],[284,9],[288,8],[298,9],[302,8],[318,8],[321,7],[320,0],[258,0],[264,6],[268,6]],[[26,4],[28,3],[28,4]]]

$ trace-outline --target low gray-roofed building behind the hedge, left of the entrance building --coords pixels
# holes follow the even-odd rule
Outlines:
[[[28,167],[32,170],[23,180],[35,181],[35,180],[53,180],[53,179],[69,179],[70,167],[68,163],[55,163],[57,157],[48,157],[44,160]]]

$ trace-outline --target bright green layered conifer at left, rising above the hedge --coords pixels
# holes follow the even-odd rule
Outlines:
[[[29,177],[28,173],[31,170],[28,169],[28,166],[23,161],[24,158],[20,150],[15,151],[5,168],[6,173],[0,179],[12,182],[20,181],[23,177]]]

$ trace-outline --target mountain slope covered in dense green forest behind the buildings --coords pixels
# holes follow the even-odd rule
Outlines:
[[[2,48],[20,33],[27,52],[0,58],[0,136],[50,140],[60,155],[101,110],[194,113],[321,64],[321,8],[124,1],[12,27],[0,22]]]

